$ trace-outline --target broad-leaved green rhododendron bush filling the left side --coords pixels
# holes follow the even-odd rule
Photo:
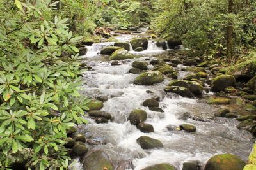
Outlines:
[[[75,46],[82,37],[68,31],[67,18],[45,20],[55,4],[0,4],[1,169],[24,148],[33,149],[31,169],[67,168],[67,129],[86,122]]]

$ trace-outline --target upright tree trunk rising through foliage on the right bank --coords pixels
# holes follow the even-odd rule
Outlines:
[[[228,13],[234,12],[234,0],[228,0]],[[234,50],[233,50],[233,21],[228,21],[227,26],[227,59],[230,59],[234,56]]]

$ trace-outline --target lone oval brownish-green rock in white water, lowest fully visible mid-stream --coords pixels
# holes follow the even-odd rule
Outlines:
[[[141,136],[137,139],[137,143],[145,150],[152,148],[163,148],[163,143],[161,141],[148,136]]]

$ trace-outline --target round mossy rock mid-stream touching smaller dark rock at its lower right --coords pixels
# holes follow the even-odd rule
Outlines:
[[[146,119],[147,112],[144,110],[133,110],[128,117],[128,120],[130,120],[132,125],[138,125],[141,122],[144,122]]]

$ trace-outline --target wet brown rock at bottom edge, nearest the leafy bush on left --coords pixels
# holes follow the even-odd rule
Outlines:
[[[97,150],[83,158],[83,168],[88,170],[113,170],[113,165],[106,153]]]

